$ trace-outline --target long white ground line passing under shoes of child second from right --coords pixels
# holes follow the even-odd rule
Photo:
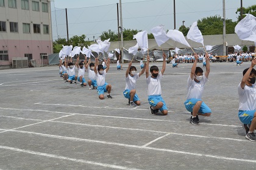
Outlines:
[[[104,108],[105,107],[100,107]],[[106,107],[109,108],[109,107]],[[50,112],[50,113],[57,113],[57,114],[73,114],[68,112],[56,112],[56,111],[50,111],[50,110],[37,110],[37,109],[14,109],[14,108],[5,108],[0,107],[0,109],[7,109],[7,110],[27,110],[27,111],[38,111],[38,112]],[[148,110],[148,109],[147,109]],[[174,123],[188,123],[187,121],[174,121],[174,120],[158,120],[158,119],[150,119],[150,118],[133,118],[133,117],[115,117],[115,116],[106,116],[106,115],[91,115],[91,114],[74,114],[74,115],[85,115],[85,116],[91,116],[91,117],[109,117],[109,118],[124,118],[124,119],[132,119],[132,120],[150,120],[150,121],[166,121],[166,122],[174,122]],[[241,127],[238,125],[232,125],[232,124],[213,124],[213,123],[200,123],[200,124],[207,124],[207,125],[213,125],[213,126],[229,126],[229,127]]]

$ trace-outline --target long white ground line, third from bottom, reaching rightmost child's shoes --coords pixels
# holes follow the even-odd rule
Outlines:
[[[5,117],[5,116],[0,116],[0,117]],[[18,117],[11,117],[11,118],[18,118]],[[20,119],[20,118],[18,118]],[[26,120],[26,118],[21,118]],[[34,120],[34,119],[27,119],[27,120]],[[43,120],[38,120],[38,121],[43,121]],[[131,131],[143,131],[143,132],[156,132],[160,134],[172,134],[172,135],[181,135],[181,136],[188,136],[188,137],[199,137],[199,138],[214,138],[218,140],[233,140],[233,141],[248,141],[248,140],[241,140],[241,139],[235,139],[235,138],[223,138],[223,137],[207,137],[207,136],[202,136],[202,135],[191,135],[191,134],[180,134],[180,133],[174,133],[174,132],[165,132],[165,131],[152,131],[152,130],[146,130],[146,129],[134,129],[134,128],[126,128],[126,127],[113,127],[113,126],[102,126],[98,124],[84,124],[84,123],[71,123],[71,122],[66,122],[66,121],[55,121],[51,120],[50,122],[55,122],[55,123],[66,123],[66,124],[76,124],[80,126],[91,126],[91,127],[103,127],[103,128],[111,128],[111,129],[123,129],[123,130],[131,130]],[[10,130],[10,129],[9,129]],[[1,129],[0,129],[1,131]],[[7,131],[6,129],[2,129],[2,131]]]

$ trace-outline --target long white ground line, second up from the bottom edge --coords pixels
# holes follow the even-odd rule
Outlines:
[[[238,159],[238,158],[232,158],[232,157],[221,157],[221,156],[218,156],[218,155],[196,154],[196,153],[176,151],[176,150],[171,150],[171,149],[143,147],[143,146],[137,146],[137,145],[132,145],[132,144],[113,143],[113,142],[99,141],[99,140],[88,140],[88,139],[74,138],[74,137],[62,137],[62,136],[59,136],[59,135],[48,135],[48,134],[40,134],[40,133],[26,132],[26,131],[13,131],[13,132],[21,132],[21,133],[24,132],[24,133],[29,133],[29,134],[40,135],[40,136],[43,136],[43,137],[59,138],[59,139],[64,139],[64,140],[85,141],[85,142],[89,142],[89,143],[111,144],[111,145],[116,145],[116,146],[124,146],[124,147],[127,147],[127,148],[137,148],[137,149],[146,149],[146,150],[152,150],[152,151],[173,152],[173,153],[177,153],[177,154],[195,155],[195,156],[199,156],[199,157],[218,158],[218,159],[221,159],[221,160],[246,161],[246,162],[256,163],[256,160]],[[1,146],[0,146],[0,148],[1,148]]]

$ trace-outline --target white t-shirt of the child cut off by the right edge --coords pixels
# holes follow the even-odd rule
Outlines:
[[[255,110],[256,109],[256,86],[244,86],[241,87],[241,83],[238,85],[239,95],[239,109],[238,110]]]

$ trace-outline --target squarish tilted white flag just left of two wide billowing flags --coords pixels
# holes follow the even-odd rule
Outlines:
[[[155,41],[157,41],[158,46],[161,46],[169,39],[169,37],[166,35],[165,30],[163,30],[164,27],[164,25],[159,25],[151,29],[151,32],[154,35]]]

